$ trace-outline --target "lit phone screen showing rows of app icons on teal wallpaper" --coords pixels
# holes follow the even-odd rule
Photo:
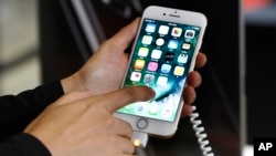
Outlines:
[[[119,113],[174,122],[201,28],[144,19],[123,86],[147,85],[156,91]]]

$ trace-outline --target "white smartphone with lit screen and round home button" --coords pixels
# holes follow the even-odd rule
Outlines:
[[[182,92],[200,50],[206,18],[200,12],[150,6],[145,9],[121,87],[147,85],[155,98],[114,113],[134,131],[172,136],[183,107]]]

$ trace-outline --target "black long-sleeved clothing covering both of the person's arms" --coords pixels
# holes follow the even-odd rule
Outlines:
[[[63,94],[61,83],[54,82],[15,96],[1,96],[0,155],[50,156],[50,152],[39,139],[22,132],[49,104]]]

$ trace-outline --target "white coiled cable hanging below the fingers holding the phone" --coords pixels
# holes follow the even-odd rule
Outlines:
[[[208,141],[208,135],[204,132],[204,127],[202,126],[202,121],[199,118],[200,114],[197,113],[197,107],[192,106],[193,113],[190,114],[190,122],[192,123],[192,127],[195,132],[195,136],[198,137],[198,143],[200,144],[200,149],[203,153],[203,156],[214,156],[212,152],[212,147],[210,146],[210,142]]]

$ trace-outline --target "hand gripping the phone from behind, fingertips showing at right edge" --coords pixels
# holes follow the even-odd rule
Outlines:
[[[105,41],[85,65],[72,76],[62,80],[64,92],[92,91],[94,95],[117,90],[124,79],[129,55],[125,50],[132,42],[140,19],[123,28],[113,38]],[[204,66],[206,55],[199,52],[195,69]],[[182,116],[192,112],[191,104],[195,101],[195,87],[201,85],[201,75],[193,71],[188,76],[188,86],[184,90],[184,108]]]

